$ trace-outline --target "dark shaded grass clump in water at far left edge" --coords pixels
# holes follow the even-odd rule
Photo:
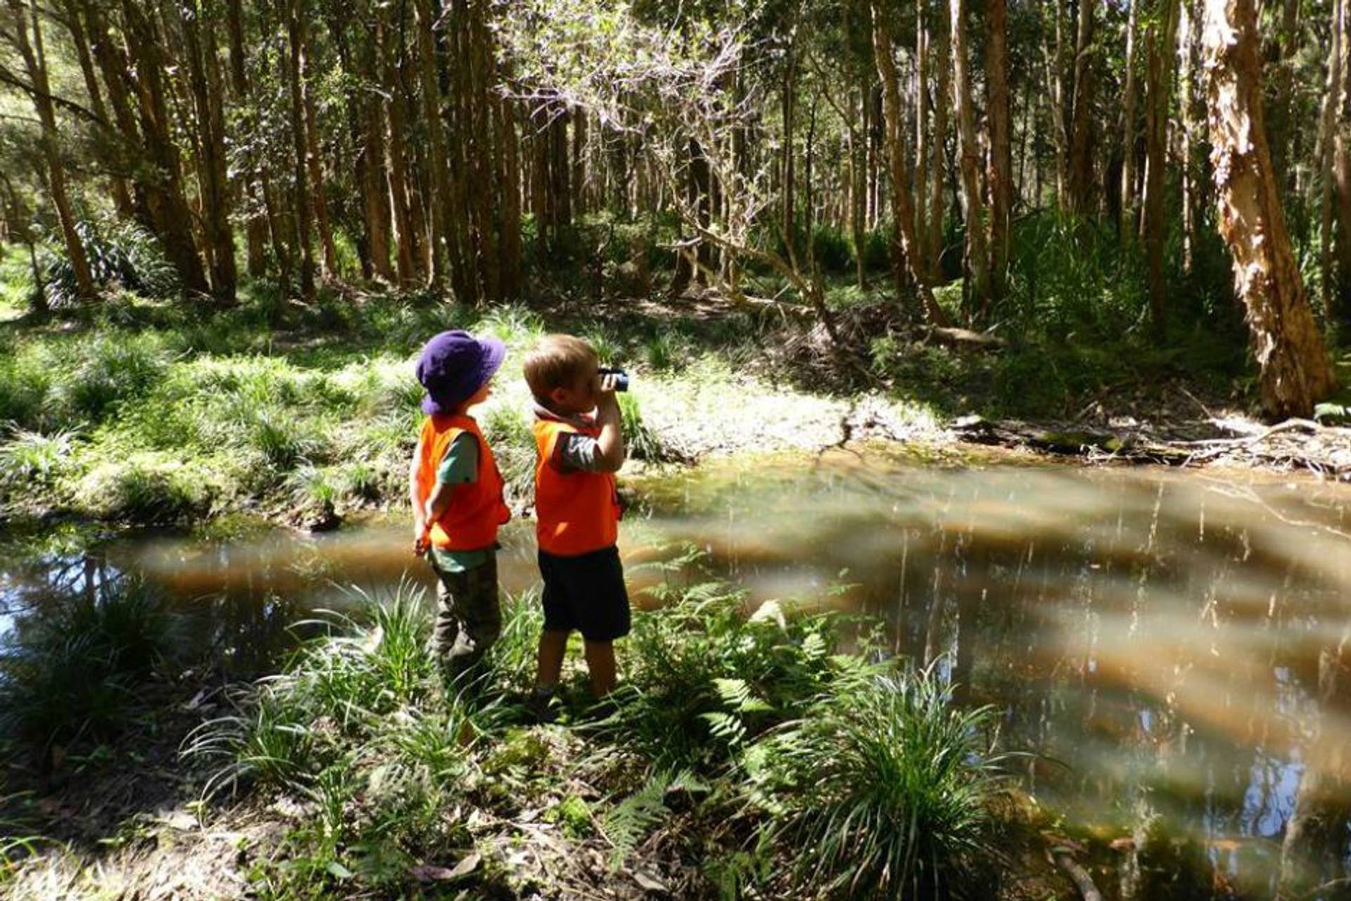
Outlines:
[[[127,578],[42,604],[0,646],[0,735],[46,754],[116,733],[154,674],[182,655],[180,627],[159,596]]]

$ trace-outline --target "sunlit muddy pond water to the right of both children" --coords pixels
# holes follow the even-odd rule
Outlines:
[[[1027,785],[1070,819],[1123,836],[1159,820],[1224,892],[1271,897],[1296,858],[1316,871],[1304,897],[1344,890],[1351,686],[1343,669],[1320,690],[1320,659],[1351,623],[1346,488],[840,455],[809,478],[707,475],[657,505],[658,531],[761,596],[855,584],[898,652],[948,655],[1005,740],[1048,758]],[[1332,785],[1317,804],[1313,756]],[[1331,838],[1282,855],[1300,804]]]

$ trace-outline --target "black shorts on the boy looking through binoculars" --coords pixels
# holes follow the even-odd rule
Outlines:
[[[546,632],[577,629],[588,642],[628,635],[628,589],[617,547],[577,557],[540,551],[539,574],[544,577]]]

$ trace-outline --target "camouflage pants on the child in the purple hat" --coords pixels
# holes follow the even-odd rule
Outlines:
[[[474,667],[503,631],[497,602],[497,557],[463,573],[450,573],[435,563],[436,627],[432,650],[449,678]]]

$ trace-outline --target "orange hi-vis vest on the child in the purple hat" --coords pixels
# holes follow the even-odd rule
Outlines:
[[[417,504],[426,509],[431,489],[436,485],[436,467],[461,432],[478,440],[478,481],[455,485],[455,494],[446,511],[430,524],[432,547],[447,551],[477,551],[497,542],[497,527],[511,519],[503,503],[503,477],[497,471],[493,451],[478,431],[478,423],[469,416],[428,416],[423,423],[417,446]]]

